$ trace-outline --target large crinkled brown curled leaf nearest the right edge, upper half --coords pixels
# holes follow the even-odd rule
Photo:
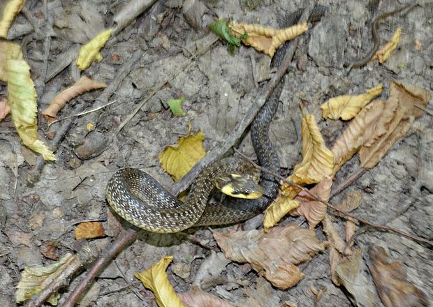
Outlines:
[[[374,134],[360,149],[362,167],[372,168],[379,163],[392,145],[406,135],[414,119],[423,112],[430,95],[425,89],[392,81],[385,110],[374,125]]]

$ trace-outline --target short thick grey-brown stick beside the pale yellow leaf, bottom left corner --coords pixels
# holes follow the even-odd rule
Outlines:
[[[98,257],[100,251],[96,244],[88,244],[84,246],[77,255],[73,257],[73,260],[67,264],[67,267],[62,268],[61,274],[53,280],[50,285],[47,285],[41,293],[38,294],[34,299],[30,299],[24,304],[24,307],[39,307],[42,306],[52,294],[56,293],[61,287],[66,287],[69,284],[69,279],[76,272],[80,271],[85,264],[93,261]]]

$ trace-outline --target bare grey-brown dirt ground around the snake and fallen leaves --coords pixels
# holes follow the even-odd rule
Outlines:
[[[27,1],[27,11],[15,18],[8,34],[8,39],[22,46],[31,66],[39,110],[44,110],[59,91],[78,80],[77,68],[66,67],[64,63],[68,59],[71,62],[80,44],[103,29],[122,23],[117,13],[132,5],[114,0],[50,0],[45,11],[44,2]],[[73,231],[78,223],[101,221],[108,237],[95,241],[101,248],[110,244],[119,233],[119,225],[108,210],[105,185],[115,171],[124,167],[140,168],[170,188],[173,180],[158,162],[158,153],[164,147],[187,135],[190,123],[193,131],[200,129],[204,133],[207,150],[218,147],[249,110],[273,73],[269,68],[270,58],[243,45],[234,54],[221,41],[210,45],[216,38],[207,29],[210,22],[217,17],[230,17],[237,22],[278,28],[281,16],[304,6],[304,1],[288,0],[147,2],[150,5],[145,13],[133,17],[131,24],[101,50],[101,63],[94,62],[82,73],[106,82],[110,90],[91,91],[72,100],[59,114],[59,118],[72,118],[49,128],[39,117],[40,135],[48,144],[53,133],[58,133],[65,123],[71,121],[72,125],[57,147],[57,162],[45,164],[34,184],[29,184],[29,178],[34,174],[36,156],[22,147],[10,117],[0,122],[1,306],[16,306],[14,287],[24,267],[51,263],[47,255],[55,258],[73,253],[85,244],[85,240],[74,239]],[[382,96],[386,98],[390,80],[413,84],[430,93],[433,89],[431,4],[420,4],[404,16],[394,15],[381,22],[382,40],[402,27],[396,53],[383,65],[375,61],[361,69],[353,68],[346,75],[344,59],[362,57],[372,47],[369,31],[372,17],[409,1],[382,0],[374,13],[368,1],[317,2],[327,6],[329,12],[301,38],[270,128],[270,139],[284,174],[290,173],[301,160],[299,104],[302,100],[308,102],[308,111],[318,119],[325,142],[330,145],[346,123],[321,119],[319,105],[327,98],[362,93],[379,83],[385,86]],[[189,63],[191,54],[207,45],[209,50],[180,69]],[[166,80],[169,82],[147,100]],[[0,83],[1,89],[5,90],[6,86]],[[183,107],[186,117],[174,117],[167,105],[171,97],[180,96],[186,98]],[[82,110],[92,110],[112,101],[115,102],[101,110],[73,117]],[[141,110],[117,133],[119,125],[140,103],[144,103]],[[427,109],[431,108],[430,103]],[[95,129],[89,132],[88,123]],[[416,120],[409,134],[379,165],[331,202],[338,203],[351,190],[361,190],[363,202],[353,214],[432,240],[432,123],[428,114]],[[239,149],[254,157],[249,135]],[[356,156],[346,163],[337,174],[335,186],[353,174],[358,165]],[[219,231],[239,227],[255,229],[260,227],[261,218]],[[338,218],[335,221],[343,225]],[[301,218],[287,217],[281,224],[301,222]],[[126,223],[123,226],[129,227]],[[367,227],[361,230],[355,237],[355,245],[361,248],[365,259],[369,246],[383,246],[390,259],[406,266],[411,283],[423,290],[432,302],[432,250],[390,232]],[[133,274],[166,255],[174,256],[168,276],[176,292],[186,292],[198,285],[239,306],[277,307],[285,306],[286,301],[296,306],[314,306],[313,289],[325,287],[316,306],[353,306],[346,290],[330,279],[328,251],[302,264],[305,277],[295,287],[282,291],[258,276],[249,264],[226,260],[207,228],[191,233],[212,250],[194,244],[181,234],[145,234],[124,249],[101,274],[92,287],[89,305],[83,306],[156,306],[152,292],[142,287]],[[319,239],[325,240],[321,226],[316,233]],[[78,280],[80,276],[71,281],[60,303]]]

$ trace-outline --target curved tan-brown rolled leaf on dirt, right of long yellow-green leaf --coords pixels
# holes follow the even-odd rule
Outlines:
[[[72,98],[75,98],[86,91],[91,91],[92,89],[105,89],[105,87],[107,87],[107,84],[104,82],[94,81],[86,76],[80,77],[80,80],[73,84],[72,87],[68,87],[68,89],[61,91],[61,93],[52,100],[50,105],[42,112],[42,114],[50,123],[51,121],[54,121],[55,117],[57,117],[57,112],[59,112]]]

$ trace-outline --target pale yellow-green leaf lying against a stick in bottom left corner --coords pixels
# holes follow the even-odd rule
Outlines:
[[[15,301],[22,303],[30,299],[32,295],[38,294],[50,285],[53,280],[56,280],[60,274],[64,274],[64,268],[73,260],[73,255],[67,253],[57,262],[48,264],[43,267],[36,265],[34,267],[26,267],[21,274],[20,283],[17,285],[17,292],[15,293]],[[56,292],[48,299],[52,305],[57,305],[60,295]]]

